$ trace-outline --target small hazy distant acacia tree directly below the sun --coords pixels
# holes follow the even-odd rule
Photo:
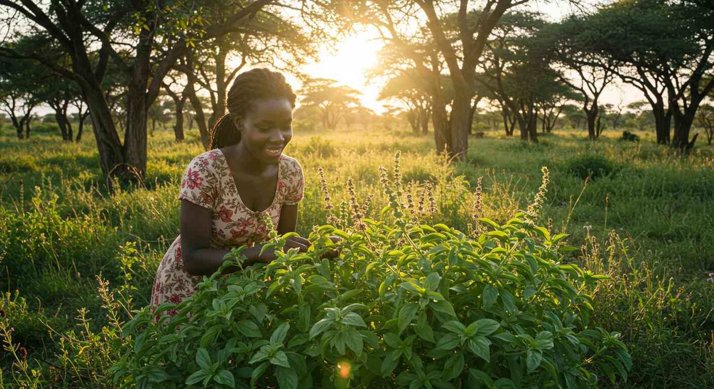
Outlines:
[[[307,79],[299,92],[301,102],[315,106],[321,113],[323,128],[333,130],[354,107],[360,105],[361,92],[349,86],[335,85],[333,79]]]

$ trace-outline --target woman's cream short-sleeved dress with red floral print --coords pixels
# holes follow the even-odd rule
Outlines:
[[[262,212],[251,211],[238,194],[226,156],[220,149],[206,151],[188,164],[181,181],[178,198],[211,210],[211,248],[231,248],[266,241],[268,229],[260,223],[262,213],[268,213],[278,226],[283,205],[294,205],[303,198],[303,169],[295,158],[286,155],[278,162],[278,184],[273,203]],[[151,306],[167,301],[181,303],[193,294],[202,277],[183,270],[181,236],[171,243],[156,271],[151,288]],[[176,315],[176,310],[168,314]]]

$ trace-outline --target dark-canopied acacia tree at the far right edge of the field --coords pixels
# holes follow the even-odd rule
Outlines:
[[[655,115],[658,143],[693,147],[690,128],[714,89],[714,7],[708,1],[622,1],[588,18],[601,39],[594,51],[615,60],[620,79],[643,91]]]

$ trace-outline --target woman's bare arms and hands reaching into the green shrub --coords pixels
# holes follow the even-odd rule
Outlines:
[[[293,206],[292,230],[295,230],[297,206]],[[211,210],[198,206],[191,201],[181,200],[181,256],[183,260],[183,269],[191,276],[210,276],[223,265],[223,256],[230,253],[230,250],[211,248]],[[278,226],[279,233],[283,226],[283,213],[281,212],[281,221]],[[301,239],[305,242],[301,242]],[[306,251],[305,243],[309,242],[303,238],[291,238],[284,248],[287,251],[289,248],[296,247],[300,251]],[[269,263],[276,256],[273,251],[260,255],[262,245],[256,245],[243,250],[243,255],[246,256],[244,266],[251,266],[256,262]],[[238,268],[236,268],[236,271]]]

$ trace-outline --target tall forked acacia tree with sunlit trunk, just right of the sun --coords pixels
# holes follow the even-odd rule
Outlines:
[[[477,9],[467,0],[350,1],[344,12],[379,29],[383,39],[400,47],[419,73],[431,80],[437,151],[466,158],[476,67],[486,41],[508,9],[527,2],[487,0]],[[414,26],[421,29],[414,31]],[[428,41],[433,46],[425,45]],[[442,60],[454,91],[448,113],[439,85]]]

